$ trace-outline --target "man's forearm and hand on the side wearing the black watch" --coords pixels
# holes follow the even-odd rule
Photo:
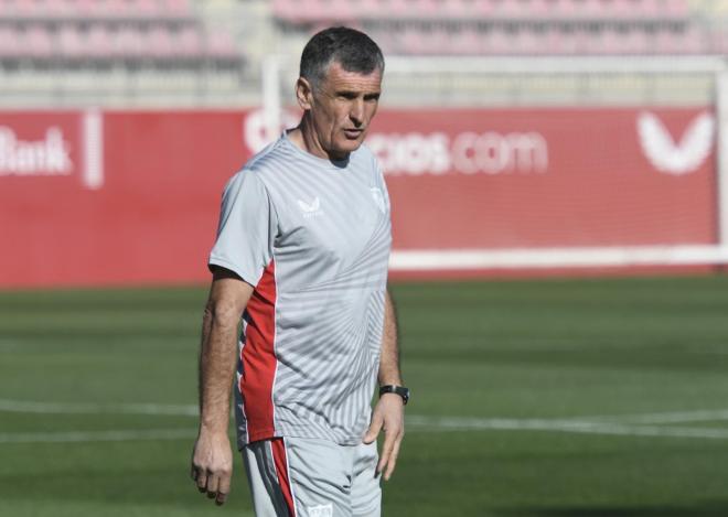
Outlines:
[[[384,304],[384,335],[378,380],[379,386],[402,386],[397,315],[388,291]],[[382,429],[384,429],[384,443],[376,471],[377,473],[384,471],[384,478],[388,481],[397,463],[399,446],[405,435],[405,405],[402,397],[396,394],[384,394],[377,401],[372,413],[372,423],[364,435],[364,443],[372,443],[376,440]]]

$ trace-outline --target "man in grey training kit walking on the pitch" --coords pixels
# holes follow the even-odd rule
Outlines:
[[[382,52],[365,34],[315,34],[296,85],[300,125],[225,189],[210,257],[192,459],[193,480],[217,504],[231,485],[237,363],[238,446],[256,514],[381,513],[378,477],[395,468],[409,397],[386,291],[389,201],[381,168],[362,147],[383,72]]]

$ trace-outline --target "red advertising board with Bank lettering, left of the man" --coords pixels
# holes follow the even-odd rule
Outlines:
[[[0,173],[0,287],[207,279],[222,189],[249,155],[244,114],[106,112],[94,187],[84,181],[89,116],[0,114],[0,127],[31,143],[61,128],[73,162],[64,175]]]

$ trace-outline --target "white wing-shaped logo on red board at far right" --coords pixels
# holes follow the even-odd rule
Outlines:
[[[636,125],[644,155],[665,174],[683,175],[696,171],[713,149],[716,120],[707,111],[690,121],[679,142],[673,141],[654,114],[642,111]]]

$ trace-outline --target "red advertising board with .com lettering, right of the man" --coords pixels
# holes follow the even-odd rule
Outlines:
[[[398,249],[709,244],[711,125],[702,109],[389,111],[370,146]]]

